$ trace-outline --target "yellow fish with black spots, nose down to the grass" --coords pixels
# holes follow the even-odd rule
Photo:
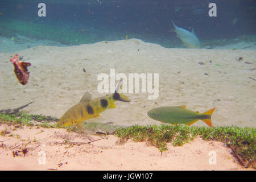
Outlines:
[[[79,125],[79,123],[85,120],[99,117],[100,113],[106,109],[115,108],[115,101],[130,102],[129,98],[119,93],[121,85],[122,80],[119,81],[117,89],[115,89],[115,93],[105,97],[94,98],[93,100],[89,92],[85,92],[81,101],[67,110],[60,118],[60,121],[57,123],[57,125]]]

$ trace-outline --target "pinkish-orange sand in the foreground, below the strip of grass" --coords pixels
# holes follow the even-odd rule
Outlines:
[[[0,136],[0,170],[252,170],[243,168],[224,143],[200,137],[181,147],[168,144],[161,155],[146,142],[120,143],[114,135],[5,124],[0,131],[5,132]]]

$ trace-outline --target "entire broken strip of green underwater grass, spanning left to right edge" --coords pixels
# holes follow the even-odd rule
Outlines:
[[[44,128],[59,128],[57,126],[59,119],[36,114],[7,114],[0,113],[0,123],[7,125],[26,125]],[[127,139],[133,139],[137,142],[148,142],[152,146],[158,147],[162,153],[167,148],[167,143],[174,146],[182,146],[196,136],[200,136],[204,140],[216,140],[225,143],[226,147],[232,149],[232,154],[237,158],[238,162],[245,168],[255,168],[256,153],[256,131],[249,127],[196,127],[186,125],[150,125],[150,126],[129,126],[114,127],[110,123],[84,123],[86,131],[93,131],[94,134],[114,134],[120,138],[120,142],[126,142]],[[98,128],[102,132],[96,132]],[[70,132],[77,131],[74,127],[69,126],[67,130]],[[110,133],[104,133],[105,130],[112,130]],[[1,131],[1,135],[5,135]]]

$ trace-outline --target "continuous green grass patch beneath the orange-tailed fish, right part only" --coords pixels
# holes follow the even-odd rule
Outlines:
[[[196,136],[204,140],[217,140],[226,144],[227,147],[236,147],[237,154],[245,162],[255,161],[256,140],[254,128],[241,127],[196,127],[185,125],[151,125],[122,127],[115,131],[121,142],[127,139],[134,141],[146,141],[159,148],[160,152],[168,150],[167,143],[181,146]],[[233,154],[234,155],[234,154]]]

